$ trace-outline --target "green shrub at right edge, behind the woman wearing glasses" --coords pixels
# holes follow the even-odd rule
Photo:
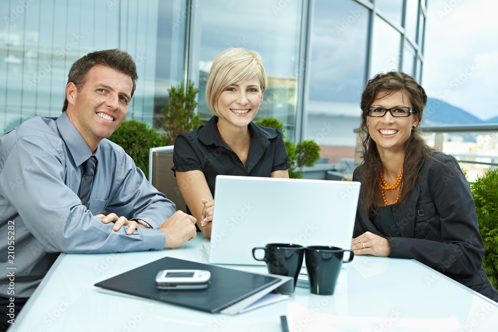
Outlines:
[[[498,169],[489,169],[471,183],[479,230],[484,240],[483,267],[498,288]]]

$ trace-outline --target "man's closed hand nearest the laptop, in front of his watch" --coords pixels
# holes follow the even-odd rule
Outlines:
[[[197,236],[195,218],[182,211],[177,211],[159,225],[166,234],[165,248],[177,248]]]

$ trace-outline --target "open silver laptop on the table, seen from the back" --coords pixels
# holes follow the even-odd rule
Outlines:
[[[264,265],[252,248],[267,243],[349,249],[359,193],[359,182],[218,175],[209,262]]]

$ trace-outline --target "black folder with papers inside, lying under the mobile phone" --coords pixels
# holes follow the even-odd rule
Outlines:
[[[155,276],[166,269],[202,269],[211,272],[211,281],[207,289],[202,290],[161,290],[155,287]],[[280,286],[281,285],[281,286]],[[165,257],[149,264],[95,284],[105,290],[127,295],[162,301],[191,309],[225,314],[237,314],[243,308],[237,303],[255,302],[267,293],[279,287],[283,293],[290,293],[293,280],[267,274],[257,274],[229,269],[225,267],[202,264],[198,262]],[[248,301],[245,301],[248,302]],[[230,312],[230,307],[237,308]],[[227,311],[228,309],[228,311]]]

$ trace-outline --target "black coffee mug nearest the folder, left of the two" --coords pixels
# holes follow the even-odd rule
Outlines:
[[[254,254],[256,250],[264,250],[264,257],[256,258]],[[294,278],[294,289],[296,288],[297,277],[303,265],[304,247],[302,245],[269,243],[265,247],[253,248],[252,257],[266,262],[268,273]]]

